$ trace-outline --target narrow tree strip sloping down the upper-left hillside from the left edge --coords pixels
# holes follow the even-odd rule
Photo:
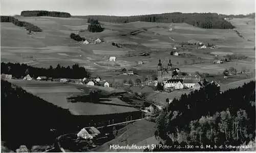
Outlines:
[[[18,19],[12,17],[12,16],[1,16],[1,22],[5,22],[5,23],[13,23],[14,25],[18,26],[18,27],[24,27],[26,30],[28,31],[33,31],[33,32],[41,32],[42,29],[40,29],[39,27],[28,23],[26,21],[19,21]]]

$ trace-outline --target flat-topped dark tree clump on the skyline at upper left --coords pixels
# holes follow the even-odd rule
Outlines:
[[[22,11],[21,16],[52,16],[52,17],[71,17],[70,13],[67,12],[57,12],[57,11]]]

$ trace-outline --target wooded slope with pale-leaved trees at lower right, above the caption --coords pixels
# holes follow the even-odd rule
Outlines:
[[[200,148],[154,151],[230,151],[255,139],[255,81],[223,93],[214,83],[174,99],[157,119],[155,136],[167,145]],[[204,146],[201,148],[201,145]],[[223,148],[206,148],[223,145]]]

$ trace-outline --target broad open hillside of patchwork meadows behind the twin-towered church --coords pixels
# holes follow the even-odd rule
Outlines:
[[[19,20],[28,21],[43,32],[28,35],[23,28],[16,27],[11,23],[1,24],[1,60],[8,62],[24,62],[34,67],[56,67],[59,63],[63,66],[78,63],[98,75],[104,75],[104,70],[121,68],[136,68],[138,70],[155,70],[158,60],[163,61],[164,67],[169,59],[173,67],[179,67],[181,71],[193,73],[196,71],[207,73],[222,73],[229,67],[237,67],[240,70],[246,67],[255,69],[255,51],[252,50],[255,29],[252,28],[251,19],[232,19],[230,22],[246,38],[241,38],[234,30],[223,29],[200,29],[187,24],[163,24],[146,23],[143,21],[113,24],[101,22],[105,30],[101,33],[87,31],[87,19],[59,18],[59,17],[18,17]],[[137,35],[129,34],[132,31],[147,29]],[[173,30],[170,31],[169,28]],[[88,40],[100,38],[104,43],[99,45],[83,45],[69,38],[71,32],[77,30]],[[195,46],[185,46],[189,49],[189,55],[171,56],[173,46],[186,41],[201,41],[214,43],[218,49],[195,49]],[[126,44],[123,48],[112,46],[112,42]],[[142,52],[151,52],[150,56],[135,56]],[[224,55],[228,53],[244,54],[250,57],[250,61],[228,62],[225,64],[213,64],[215,58],[210,53]],[[108,67],[104,63],[109,56],[117,57],[118,67]],[[138,65],[138,61],[147,61]],[[185,62],[186,61],[186,62]],[[112,76],[115,76],[113,73]]]

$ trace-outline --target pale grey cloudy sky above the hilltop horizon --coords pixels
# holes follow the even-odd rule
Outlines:
[[[20,15],[24,10],[118,16],[171,12],[249,14],[255,12],[255,0],[1,0],[1,15]]]

